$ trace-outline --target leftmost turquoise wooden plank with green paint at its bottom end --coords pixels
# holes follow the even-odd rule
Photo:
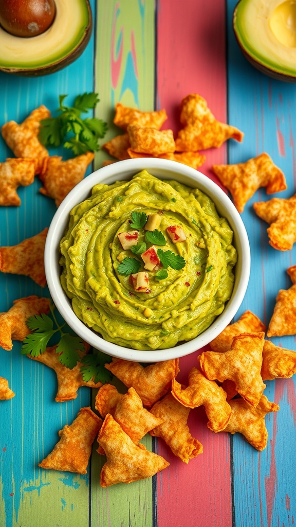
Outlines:
[[[91,0],[94,13],[95,2]],[[93,91],[94,36],[78,60],[52,75],[25,78],[0,75],[0,124],[23,121],[40,104],[51,111],[58,95]],[[65,149],[50,154],[69,157]],[[13,157],[0,140],[0,162]],[[87,173],[92,171],[89,167]],[[56,210],[54,201],[38,192],[38,178],[19,188],[21,207],[0,208],[0,246],[15,245],[50,224]],[[0,273],[0,311],[13,300],[28,295],[49,297],[48,289],[23,276]],[[0,375],[15,392],[11,401],[0,401],[0,525],[1,527],[48,527],[48,525],[88,525],[88,475],[44,471],[38,467],[58,441],[57,432],[71,423],[82,406],[91,403],[91,391],[80,388],[75,401],[56,403],[53,370],[21,356],[21,343],[12,352],[0,349]]]

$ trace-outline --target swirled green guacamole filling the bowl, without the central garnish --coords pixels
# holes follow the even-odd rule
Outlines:
[[[123,251],[117,238],[132,230],[135,211],[161,213],[161,249],[186,261],[181,270],[168,267],[162,280],[148,271],[151,292],[135,292],[130,277],[118,271],[125,256],[138,258],[145,270],[141,256]],[[105,340],[135,349],[169,348],[198,336],[222,313],[234,282],[233,232],[199,189],[143,170],[131,181],[97,184],[70,216],[61,240],[62,286],[77,317]],[[171,241],[166,228],[172,225],[183,228],[185,241]],[[141,229],[139,241],[144,239]]]

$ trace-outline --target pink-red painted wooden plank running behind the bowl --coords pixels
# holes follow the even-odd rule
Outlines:
[[[159,0],[157,108],[169,115],[163,128],[180,128],[179,105],[189,93],[205,97],[216,119],[226,122],[225,5],[220,0]],[[216,181],[211,165],[226,162],[226,145],[204,153],[200,170]],[[180,360],[178,380],[187,382],[197,355]],[[203,454],[188,465],[158,442],[157,451],[171,463],[157,476],[159,527],[232,525],[229,436],[215,435],[206,422],[203,408],[191,412],[191,433],[203,444]]]

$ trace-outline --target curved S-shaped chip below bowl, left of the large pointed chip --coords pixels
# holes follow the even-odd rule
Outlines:
[[[203,405],[209,419],[208,428],[221,432],[230,419],[231,408],[226,403],[226,393],[213,380],[209,380],[198,370],[191,368],[188,377],[189,386],[185,389],[173,379],[172,394],[179,403],[188,408]]]

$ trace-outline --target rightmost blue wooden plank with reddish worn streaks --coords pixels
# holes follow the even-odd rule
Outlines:
[[[270,79],[245,60],[232,30],[235,0],[228,0],[229,122],[245,132],[242,144],[229,143],[229,163],[244,162],[265,151],[285,173],[288,189],[267,196],[257,191],[242,213],[251,245],[251,278],[238,316],[251,309],[265,324],[273,313],[279,289],[292,284],[286,269],[295,264],[296,247],[277,251],[268,242],[268,224],[256,217],[252,204],[295,192],[295,85]],[[238,317],[236,317],[238,318]],[[296,349],[295,337],[273,338],[274,344]],[[256,452],[239,434],[233,436],[234,520],[240,527],[288,527],[296,514],[295,380],[267,382],[264,394],[280,405],[266,418],[267,448]]]

